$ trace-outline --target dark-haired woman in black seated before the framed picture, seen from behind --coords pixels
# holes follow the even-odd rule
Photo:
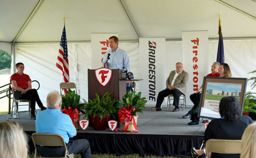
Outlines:
[[[236,97],[223,97],[220,101],[221,119],[212,120],[204,134],[204,142],[210,139],[241,140],[244,130],[253,120],[248,116],[241,116],[239,102]],[[193,157],[204,154],[204,149],[191,149]],[[209,153],[209,158],[239,158],[240,154]]]

